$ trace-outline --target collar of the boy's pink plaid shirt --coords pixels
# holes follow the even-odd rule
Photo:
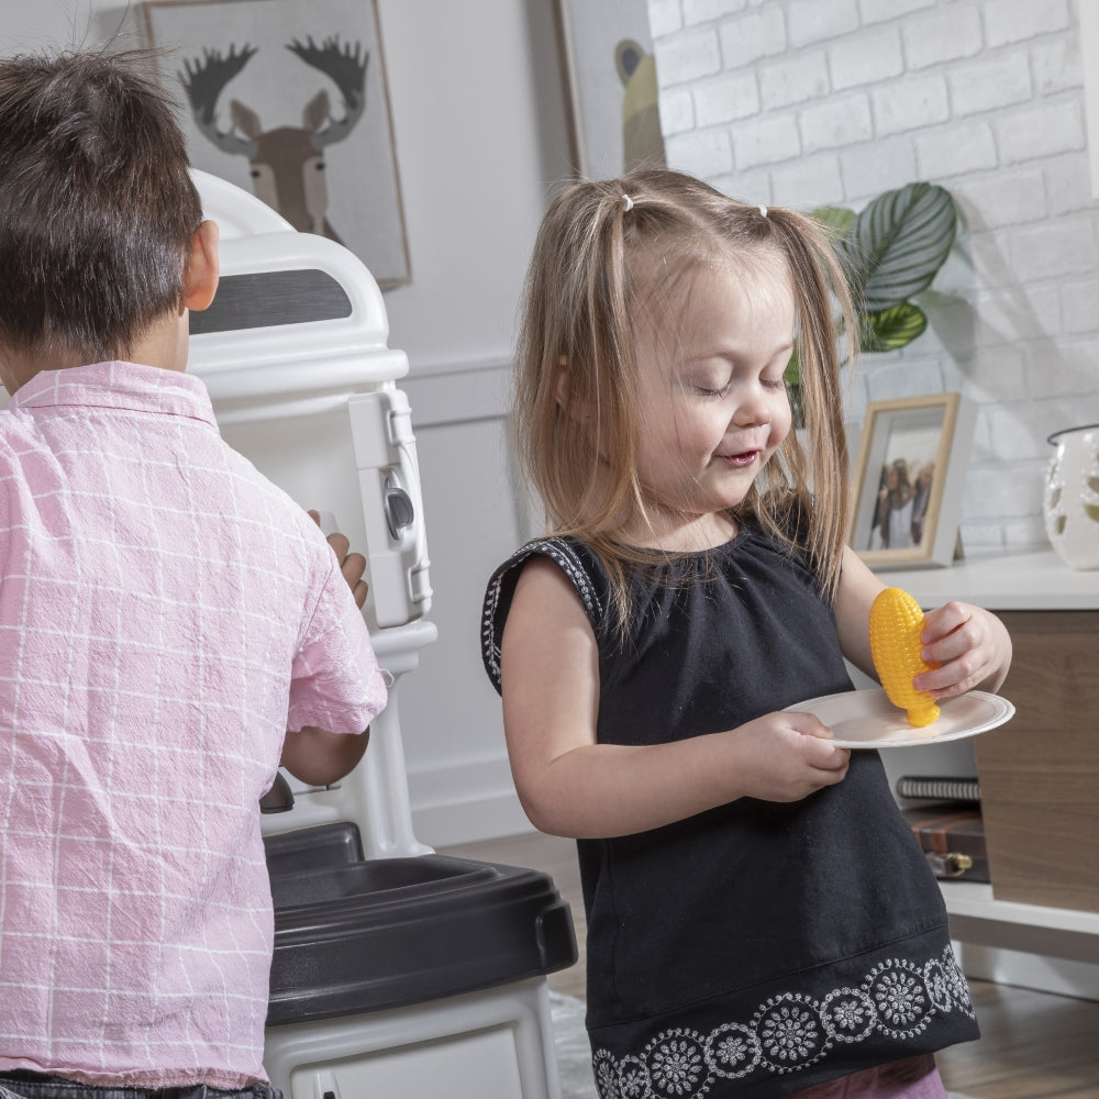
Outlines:
[[[42,370],[20,386],[8,402],[9,411],[65,406],[182,415],[217,429],[210,395],[201,378],[138,363],[93,363]]]

